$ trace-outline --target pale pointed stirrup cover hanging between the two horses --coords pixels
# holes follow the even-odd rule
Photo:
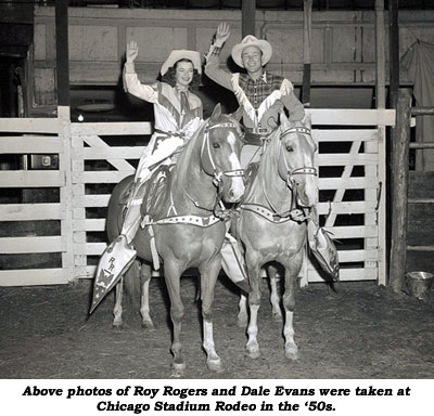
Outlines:
[[[245,271],[244,258],[235,238],[226,233],[225,242],[220,250],[221,266],[227,276],[243,291],[250,292],[248,276]]]

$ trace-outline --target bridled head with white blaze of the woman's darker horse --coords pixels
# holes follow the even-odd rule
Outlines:
[[[217,104],[205,125],[204,134],[202,169],[214,177],[214,183],[225,202],[237,203],[244,194],[240,165],[241,127],[232,117],[221,114],[220,104]]]

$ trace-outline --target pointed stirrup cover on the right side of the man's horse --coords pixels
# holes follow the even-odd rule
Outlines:
[[[333,282],[337,282],[340,274],[337,250],[330,233],[319,226],[318,221],[311,219],[307,224],[307,239],[310,252],[321,269],[333,278]]]

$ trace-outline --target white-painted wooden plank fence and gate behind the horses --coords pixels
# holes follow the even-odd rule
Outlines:
[[[342,242],[342,280],[376,280],[384,284],[385,128],[394,125],[395,112],[310,113],[312,134],[319,143],[318,208],[327,230]],[[0,286],[62,284],[93,277],[105,247],[110,194],[116,183],[133,173],[151,133],[146,122],[72,123],[62,117],[66,108],[60,107],[59,114],[53,119],[0,119],[0,153],[55,154],[60,160],[56,170],[0,171],[0,188],[59,190],[55,203],[0,204],[0,222],[58,220],[61,224],[59,235],[0,237],[0,256],[61,256],[59,266],[0,270]],[[319,281],[319,272],[306,262],[302,284]]]

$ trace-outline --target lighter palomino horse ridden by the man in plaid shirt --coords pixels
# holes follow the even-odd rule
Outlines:
[[[277,261],[284,268],[283,307],[285,311],[285,355],[297,358],[293,314],[295,289],[306,243],[306,218],[297,207],[314,207],[318,200],[317,171],[314,168],[316,144],[310,136],[310,118],[289,121],[281,115],[281,126],[265,145],[260,164],[240,208],[237,236],[245,247],[250,278],[250,322],[247,355],[259,356],[257,314],[260,304],[260,268]],[[276,270],[272,269],[271,302],[273,313],[281,314],[276,299]],[[246,298],[240,300],[239,324],[247,323]]]

